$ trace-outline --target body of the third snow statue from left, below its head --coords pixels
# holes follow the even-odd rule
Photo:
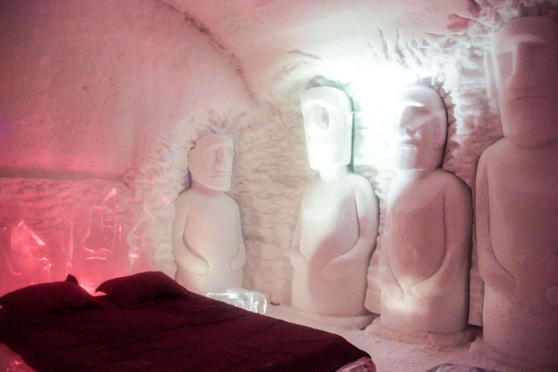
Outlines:
[[[449,199],[450,195],[454,195],[453,199]],[[387,249],[403,298],[382,291],[383,326],[401,332],[438,334],[451,334],[466,327],[472,207],[469,195],[464,182],[441,169],[415,181],[399,177],[392,181],[386,216],[388,232],[382,249]],[[456,225],[456,220],[461,224]],[[459,231],[451,234],[446,229]],[[448,254],[450,257],[446,257]],[[429,291],[414,291],[417,284],[431,281],[436,274],[444,277],[443,282],[438,277],[437,283],[430,283]]]

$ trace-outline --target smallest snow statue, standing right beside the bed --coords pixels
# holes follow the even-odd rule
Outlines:
[[[242,287],[246,260],[237,203],[230,189],[233,140],[209,134],[195,142],[188,154],[190,189],[176,199],[172,249],[176,281],[203,294]]]

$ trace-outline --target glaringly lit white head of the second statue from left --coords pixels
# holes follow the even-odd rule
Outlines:
[[[351,161],[353,101],[331,86],[306,90],[300,96],[310,168],[326,170]]]

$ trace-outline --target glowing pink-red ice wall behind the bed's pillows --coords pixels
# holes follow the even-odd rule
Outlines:
[[[129,195],[107,181],[3,178],[0,182],[0,292],[75,273],[88,290],[125,274]],[[118,187],[118,191],[117,191]]]

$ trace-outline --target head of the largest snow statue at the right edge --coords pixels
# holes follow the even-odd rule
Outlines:
[[[494,33],[485,67],[505,137],[522,146],[558,139],[558,21],[508,22]]]

